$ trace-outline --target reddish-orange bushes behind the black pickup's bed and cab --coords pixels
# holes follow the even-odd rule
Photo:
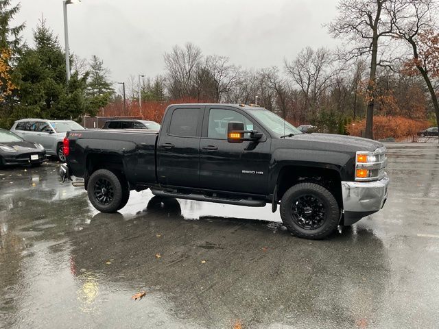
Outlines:
[[[142,101],[142,108],[139,108],[139,101],[127,101],[126,110],[123,108],[123,101],[109,103],[105,108],[99,110],[98,117],[142,117],[144,120],[162,122],[166,108],[171,104],[182,103],[204,103],[199,99],[182,98],[172,101]]]

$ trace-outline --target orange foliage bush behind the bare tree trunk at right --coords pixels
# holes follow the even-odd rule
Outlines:
[[[427,127],[429,127],[427,120],[376,115],[373,119],[373,136],[375,139],[412,137],[412,140],[416,140],[416,133]],[[354,121],[346,126],[347,132],[352,136],[361,136],[365,129],[366,119]]]

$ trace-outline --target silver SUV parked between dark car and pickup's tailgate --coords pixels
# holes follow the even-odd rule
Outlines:
[[[84,127],[71,120],[22,119],[11,128],[11,132],[25,141],[43,145],[48,155],[56,156],[61,162],[65,161],[62,141],[69,130],[84,130]]]

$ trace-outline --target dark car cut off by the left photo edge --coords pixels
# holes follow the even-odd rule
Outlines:
[[[0,129],[0,169],[9,164],[31,164],[40,166],[46,160],[43,145],[24,141],[23,138]]]

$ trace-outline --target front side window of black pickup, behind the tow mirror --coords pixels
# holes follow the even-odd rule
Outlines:
[[[209,111],[207,138],[227,139],[227,125],[230,121],[244,123],[244,130],[253,130],[253,123],[241,113],[233,110],[212,108]],[[248,136],[246,136],[248,137]]]

